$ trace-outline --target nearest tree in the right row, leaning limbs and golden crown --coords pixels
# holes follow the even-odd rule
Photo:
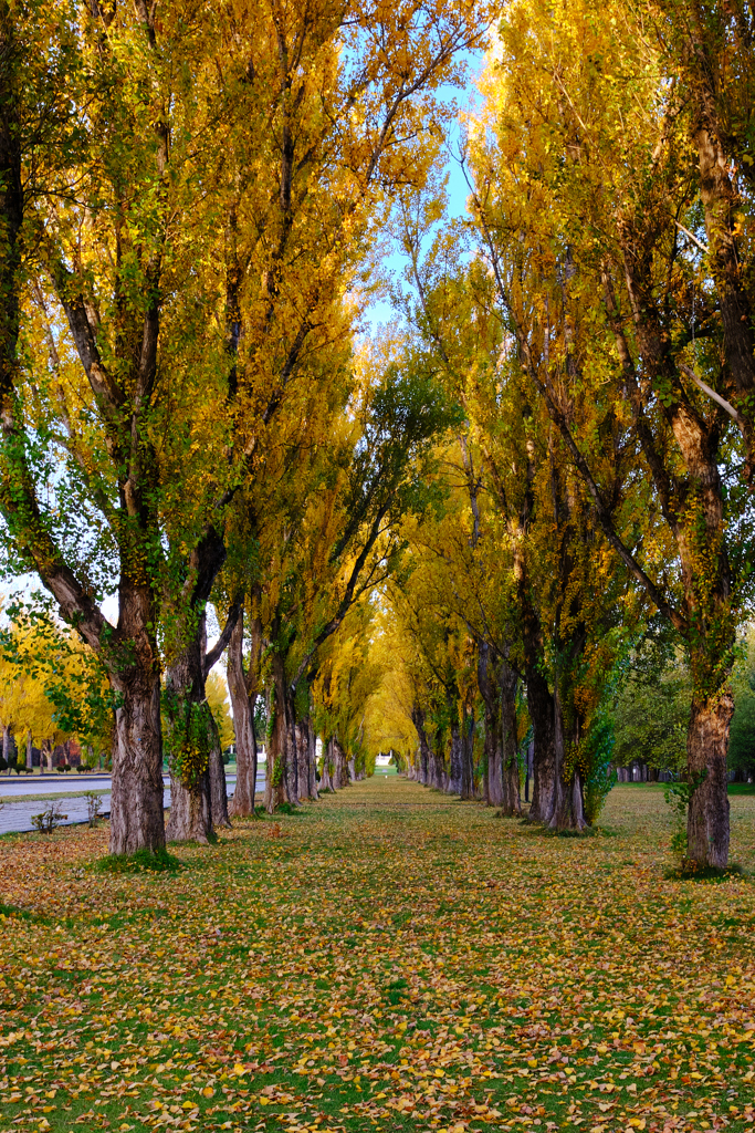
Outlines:
[[[664,17],[685,10],[667,6]],[[706,164],[700,102],[668,78],[664,52],[630,9],[511,8],[489,73],[490,130],[474,147],[475,208],[513,349],[606,539],[684,642],[687,858],[721,868],[728,682],[750,552],[738,471],[748,426],[719,391],[727,375],[745,382],[749,364],[743,335],[727,330],[729,284],[697,235],[702,215],[714,257],[719,239],[741,263],[749,253],[721,211],[721,177],[718,203],[709,199],[723,168]],[[662,535],[642,531],[625,495],[640,469]]]

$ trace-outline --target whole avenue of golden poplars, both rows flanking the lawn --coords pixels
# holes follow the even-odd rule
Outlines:
[[[446,225],[436,92],[491,18]],[[482,716],[512,811],[526,723],[530,815],[580,829],[650,636],[689,672],[688,857],[726,864],[754,31],[697,0],[0,2],[0,510],[109,674],[113,851],[164,841],[161,705],[171,836],[228,820],[225,649],[238,813],[263,691],[271,809],[315,793],[317,731],[329,774],[403,697],[463,795]],[[360,344],[391,224],[406,329]]]

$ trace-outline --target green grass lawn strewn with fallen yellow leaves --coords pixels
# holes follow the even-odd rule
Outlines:
[[[755,795],[731,799],[755,870]],[[0,842],[0,1131],[752,1130],[755,880],[661,791],[548,837],[383,775],[106,875]]]

